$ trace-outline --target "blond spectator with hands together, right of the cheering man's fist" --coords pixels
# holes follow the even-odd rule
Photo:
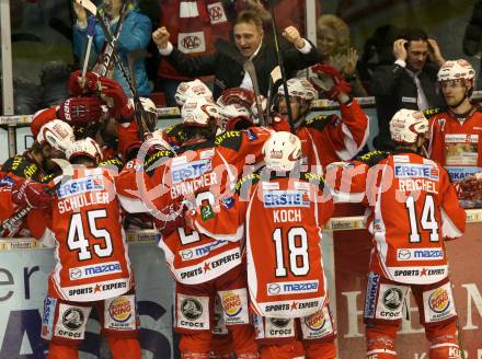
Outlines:
[[[348,25],[335,15],[321,15],[317,22],[317,43],[321,62],[333,66],[343,76],[353,89],[352,95],[366,96],[356,70],[358,54],[349,44]]]

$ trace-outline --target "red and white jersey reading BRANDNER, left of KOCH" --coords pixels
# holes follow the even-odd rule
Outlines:
[[[138,184],[136,173],[131,171],[123,172],[116,178],[122,201],[134,208],[136,201],[133,199],[141,199],[141,210],[151,213],[165,213],[167,208],[186,199],[199,205],[215,204],[220,194],[236,183],[246,155],[252,157],[250,163],[260,161],[263,143],[269,134],[263,128],[227,131],[215,141],[181,147],[175,158],[170,158],[172,152],[161,151],[145,162],[144,184]],[[159,165],[156,164],[158,160],[161,161]],[[217,278],[242,260],[238,241],[213,239],[186,228],[164,235],[159,246],[165,253],[175,280],[186,285]]]

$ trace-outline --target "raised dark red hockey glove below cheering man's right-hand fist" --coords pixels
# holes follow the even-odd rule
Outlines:
[[[310,81],[324,97],[338,101],[341,93],[352,92],[349,83],[332,66],[318,63],[311,67],[311,70],[318,74],[318,78],[311,78]]]

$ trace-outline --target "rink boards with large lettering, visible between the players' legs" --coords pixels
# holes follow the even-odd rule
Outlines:
[[[357,213],[357,209],[346,212]],[[337,216],[343,215],[338,211]],[[337,324],[338,358],[363,358],[365,332],[362,322],[370,238],[363,218],[332,219],[324,232],[323,258]],[[463,238],[447,243],[457,309],[468,358],[482,358],[482,213],[468,211]],[[129,255],[134,265],[141,323],[144,358],[173,358],[172,296],[173,282],[162,251],[156,247],[150,231],[129,234]],[[54,265],[50,248],[25,239],[0,240],[0,359],[44,358],[39,339],[41,313],[46,293],[47,275]],[[335,298],[335,300],[333,300]],[[428,344],[418,324],[414,300],[408,302],[405,319],[397,346],[403,359],[427,359]],[[99,321],[91,317],[81,358],[106,358],[100,340]]]

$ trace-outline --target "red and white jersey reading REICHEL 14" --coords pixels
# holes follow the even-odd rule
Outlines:
[[[414,285],[447,277],[444,239],[462,235],[466,212],[443,166],[415,152],[376,151],[334,171],[335,201],[369,208],[370,270]]]

